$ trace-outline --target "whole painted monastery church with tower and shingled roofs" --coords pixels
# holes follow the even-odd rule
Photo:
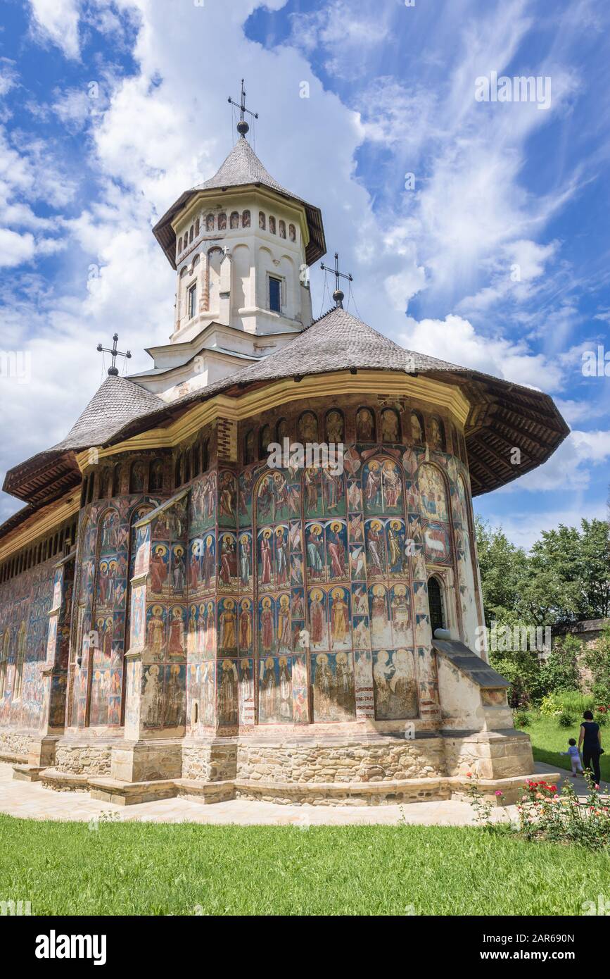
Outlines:
[[[126,804],[449,799],[467,772],[513,801],[532,751],[481,647],[472,496],[567,426],[403,350],[338,279],[314,320],[322,213],[238,129],[153,229],[169,343],[6,476],[0,758]],[[343,443],[342,465],[271,465],[272,443]]]

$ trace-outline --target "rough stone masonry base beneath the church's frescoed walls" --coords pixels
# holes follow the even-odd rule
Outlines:
[[[473,777],[484,797],[509,805],[535,777],[530,739],[514,729],[413,740],[372,732],[283,740],[267,734],[106,744],[66,739],[56,756],[54,768],[36,770],[43,786],[88,791],[125,806],[173,796],[315,806],[444,801],[463,798]],[[16,766],[16,777],[24,777],[22,769]]]

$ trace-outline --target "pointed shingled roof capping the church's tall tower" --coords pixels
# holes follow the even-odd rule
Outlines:
[[[167,256],[172,268],[176,268],[176,235],[172,228],[172,221],[176,215],[185,208],[192,198],[201,191],[208,190],[230,190],[232,187],[268,187],[277,194],[282,194],[289,201],[303,205],[307,216],[307,226],[309,228],[309,242],[305,250],[305,257],[309,265],[317,261],[327,253],[327,242],[322,221],[322,211],[320,208],[308,204],[302,198],[286,190],[281,183],[278,183],[269,171],[260,162],[254,150],[248,143],[245,136],[240,136],[233,150],[224,163],[218,168],[213,177],[204,183],[197,184],[191,190],[187,190],[166,210],[163,216],[152,228],[152,234],[158,241]]]

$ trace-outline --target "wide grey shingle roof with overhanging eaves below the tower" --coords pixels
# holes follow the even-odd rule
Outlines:
[[[543,392],[405,350],[347,310],[332,308],[281,350],[175,401],[163,401],[125,378],[109,377],[65,439],[10,470],[4,489],[28,502],[47,501],[45,472],[53,474],[55,484],[61,472],[65,479],[77,479],[76,451],[130,438],[222,392],[239,396],[250,386],[343,370],[410,373],[461,388],[470,404],[464,436],[473,495],[541,465],[570,431]],[[382,378],[379,385],[382,390]],[[514,448],[521,452],[520,465],[511,462]]]

